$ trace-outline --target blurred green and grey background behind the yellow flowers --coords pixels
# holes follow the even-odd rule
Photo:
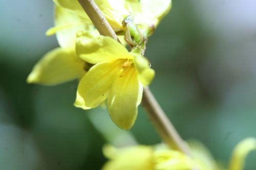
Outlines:
[[[100,169],[105,138],[132,143],[106,110],[73,107],[77,81],[26,83],[58,46],[45,36],[52,26],[50,0],[0,1],[1,169]],[[173,0],[146,57],[156,70],[151,89],[184,139],[204,142],[227,163],[235,144],[256,137],[255,1]],[[139,143],[161,141],[142,108],[131,133]],[[245,170],[255,160],[254,152]]]

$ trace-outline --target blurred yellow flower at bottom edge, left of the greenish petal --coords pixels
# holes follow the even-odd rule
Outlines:
[[[103,154],[109,161],[102,170],[190,170],[194,167],[191,158],[166,147],[137,145],[118,149],[106,145]]]

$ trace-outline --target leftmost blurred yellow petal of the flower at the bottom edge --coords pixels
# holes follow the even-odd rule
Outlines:
[[[103,152],[111,155],[111,160],[105,163],[102,170],[154,170],[152,147],[138,145],[117,149],[108,146],[103,148]]]

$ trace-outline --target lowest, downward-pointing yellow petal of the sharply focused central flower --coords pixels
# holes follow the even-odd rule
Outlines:
[[[111,119],[119,128],[129,130],[133,126],[142,91],[134,66],[127,68],[113,83],[107,105]]]

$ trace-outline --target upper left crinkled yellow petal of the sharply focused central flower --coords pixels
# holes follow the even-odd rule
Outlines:
[[[92,35],[90,32],[77,34],[76,51],[81,59],[92,64],[118,58],[133,58],[126,48],[113,38]]]

